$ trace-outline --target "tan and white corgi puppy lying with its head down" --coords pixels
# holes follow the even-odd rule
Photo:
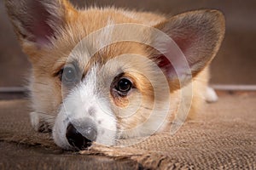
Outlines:
[[[166,17],[67,0],[5,4],[32,63],[32,127],[63,149],[170,132],[218,99],[207,86],[224,38],[218,10]]]

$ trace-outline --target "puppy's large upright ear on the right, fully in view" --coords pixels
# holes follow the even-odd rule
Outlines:
[[[192,11],[178,14],[155,28],[168,38],[152,35],[157,49],[154,57],[166,77],[179,87],[190,82],[218,52],[224,38],[224,15],[217,10]]]

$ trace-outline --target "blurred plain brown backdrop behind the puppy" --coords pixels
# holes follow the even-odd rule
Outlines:
[[[226,36],[212,63],[212,84],[256,84],[255,0],[73,0],[73,3],[79,7],[116,6],[164,14],[217,8],[226,17]],[[3,0],[0,0],[0,87],[24,85],[24,75],[29,67],[16,41]]]

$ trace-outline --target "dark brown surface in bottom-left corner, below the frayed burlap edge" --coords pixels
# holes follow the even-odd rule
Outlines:
[[[0,169],[141,169],[137,162],[0,142]]]

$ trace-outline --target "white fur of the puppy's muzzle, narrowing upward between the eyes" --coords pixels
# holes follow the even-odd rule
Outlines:
[[[54,127],[55,143],[69,148],[66,130],[69,123],[92,120],[96,125],[96,142],[113,145],[117,135],[116,118],[110,109],[108,93],[97,87],[99,75],[97,66],[93,66],[83,82],[74,88],[61,106]],[[109,88],[108,88],[109,90]],[[75,126],[75,124],[74,124]]]

